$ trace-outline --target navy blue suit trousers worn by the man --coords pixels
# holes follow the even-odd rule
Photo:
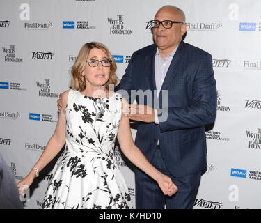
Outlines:
[[[162,160],[161,151],[156,149],[152,165],[162,174],[170,177],[178,188],[172,197],[163,194],[157,182],[143,171],[136,169],[136,208],[137,209],[192,209],[200,185],[201,171],[176,178]]]

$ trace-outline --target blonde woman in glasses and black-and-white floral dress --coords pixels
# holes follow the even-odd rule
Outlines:
[[[125,156],[157,181],[164,194],[177,187],[161,174],[134,145],[127,101],[109,91],[116,85],[116,63],[101,43],[86,43],[72,67],[71,88],[62,94],[56,130],[31,172],[18,184],[30,186],[33,178],[66,142],[49,180],[42,208],[132,208],[125,180],[114,159],[116,135]]]

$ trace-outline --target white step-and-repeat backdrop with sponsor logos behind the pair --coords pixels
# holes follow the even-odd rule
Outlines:
[[[54,132],[56,100],[69,87],[81,46],[109,47],[121,79],[132,53],[152,44],[149,21],[169,4],[187,15],[184,41],[212,54],[217,82],[216,122],[206,128],[207,169],[194,208],[261,208],[260,0],[1,0],[0,153],[17,183]],[[115,155],[135,203],[133,167],[119,146]],[[40,208],[55,161],[20,197],[24,208]]]

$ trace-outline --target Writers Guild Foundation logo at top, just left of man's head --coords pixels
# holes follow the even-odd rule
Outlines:
[[[132,35],[132,29],[125,29],[123,15],[117,15],[117,18],[113,20],[113,18],[108,18],[108,24],[110,27],[111,35]]]

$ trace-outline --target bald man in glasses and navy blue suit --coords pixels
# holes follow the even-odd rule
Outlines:
[[[132,90],[152,91],[153,101],[159,102],[151,105],[150,97],[145,97],[137,106],[138,114],[128,116],[141,121],[136,146],[172,178],[178,192],[164,196],[152,178],[136,169],[136,208],[193,208],[207,165],[204,125],[214,123],[216,116],[212,56],[183,42],[187,26],[180,8],[162,7],[151,24],[155,44],[134,52],[116,90],[127,91],[129,103],[136,99],[139,104]],[[143,109],[145,114],[139,112]]]

